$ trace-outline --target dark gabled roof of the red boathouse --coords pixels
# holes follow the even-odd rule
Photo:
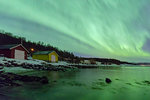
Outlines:
[[[13,48],[16,48],[16,47],[18,47],[18,46],[22,46],[22,47],[29,53],[29,51],[28,51],[22,44],[0,45],[0,49],[1,49],[1,50],[13,49]]]

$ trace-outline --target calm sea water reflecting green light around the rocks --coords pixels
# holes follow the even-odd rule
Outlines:
[[[150,67],[101,67],[76,72],[28,72],[50,83],[3,88],[0,100],[150,100]],[[105,78],[112,79],[111,84]]]

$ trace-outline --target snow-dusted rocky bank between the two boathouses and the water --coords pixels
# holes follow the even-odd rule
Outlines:
[[[67,65],[55,65],[41,60],[16,60],[16,59],[0,59],[0,66],[5,67],[22,67],[25,69],[48,70],[48,71],[68,71],[74,70],[76,67]]]

